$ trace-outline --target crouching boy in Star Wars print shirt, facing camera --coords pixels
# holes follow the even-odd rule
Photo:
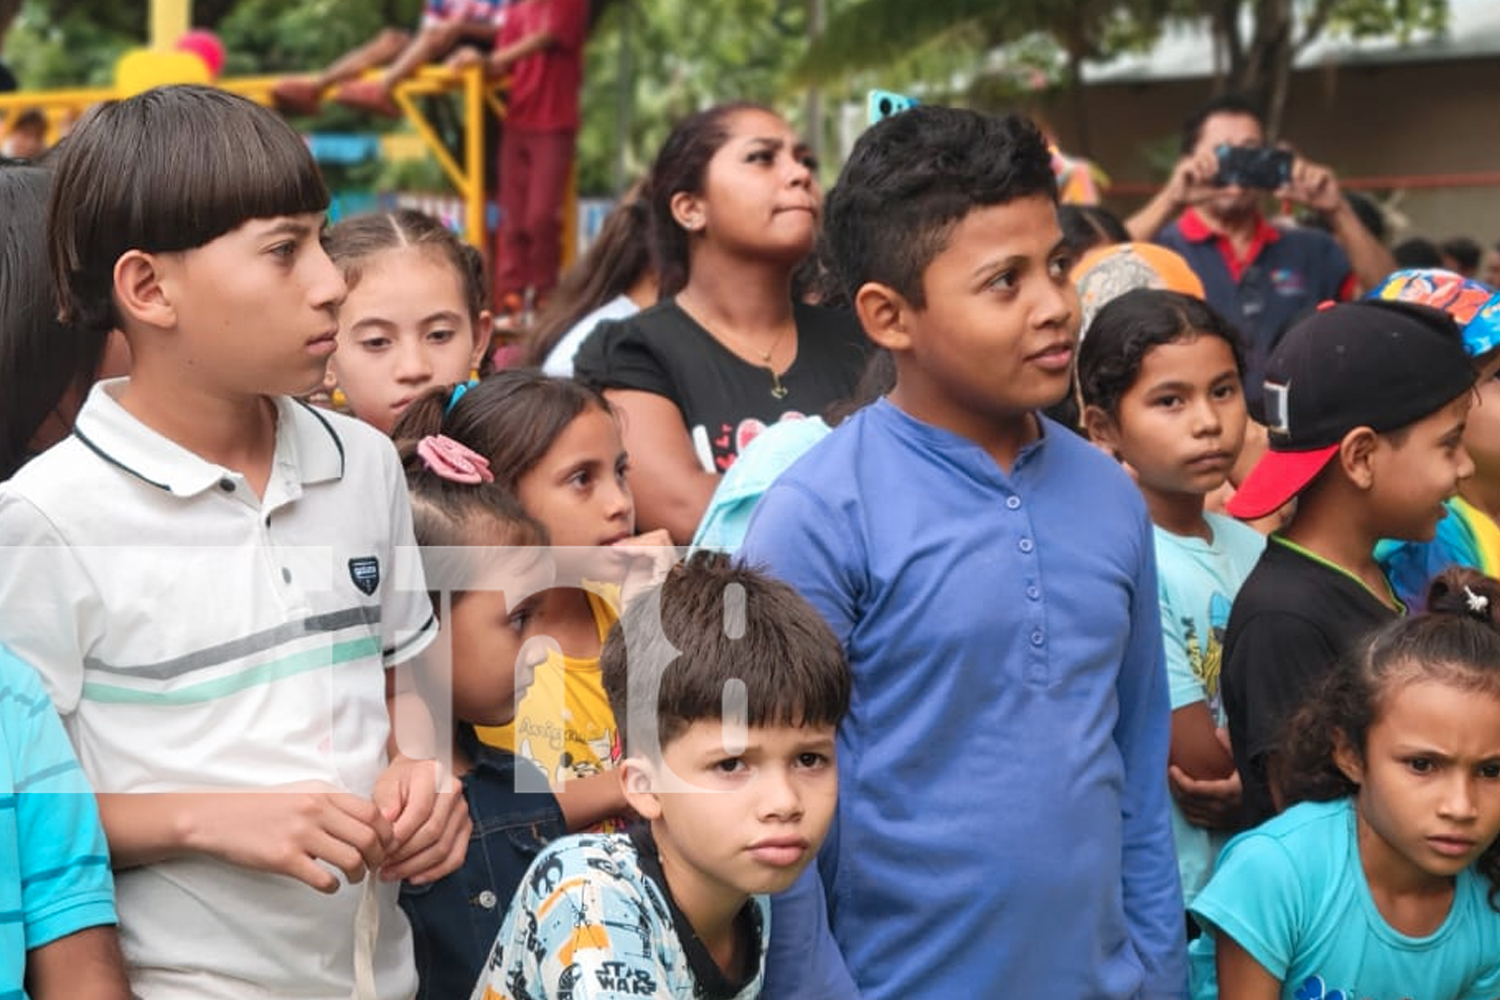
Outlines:
[[[646,822],[537,856],[474,1000],[753,1000],[765,894],[832,819],[843,649],[792,588],[699,552],[627,607],[600,669]]]

